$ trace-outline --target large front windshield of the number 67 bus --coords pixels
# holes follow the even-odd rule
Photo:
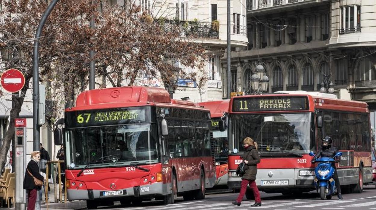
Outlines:
[[[159,162],[155,123],[75,128],[68,138],[75,168]]]

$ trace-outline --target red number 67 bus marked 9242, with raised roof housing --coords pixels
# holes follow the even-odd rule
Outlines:
[[[162,88],[82,92],[65,110],[68,199],[86,200],[90,209],[204,199],[215,182],[210,123],[209,110],[170,99]]]

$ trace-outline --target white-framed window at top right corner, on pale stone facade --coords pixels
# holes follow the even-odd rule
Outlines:
[[[340,8],[340,34],[360,32],[360,6],[350,5]]]

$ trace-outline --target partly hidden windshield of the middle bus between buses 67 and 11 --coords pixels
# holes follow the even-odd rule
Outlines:
[[[214,130],[212,142],[214,145],[215,161],[219,163],[227,163],[227,130]]]

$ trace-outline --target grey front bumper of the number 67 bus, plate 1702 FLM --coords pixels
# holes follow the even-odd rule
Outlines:
[[[121,199],[121,198],[151,198],[154,196],[163,196],[163,183],[156,182],[152,184],[146,184],[143,186],[129,187],[126,189],[114,189],[124,190],[123,195],[103,196],[104,191],[112,190],[79,190],[79,189],[67,189],[67,195],[69,200],[93,200],[93,199]]]

